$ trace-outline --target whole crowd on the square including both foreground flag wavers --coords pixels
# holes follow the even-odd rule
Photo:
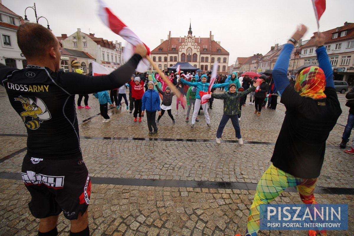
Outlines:
[[[304,203],[316,204],[314,189],[324,161],[326,140],[342,110],[334,89],[333,71],[322,33],[316,32],[312,37],[317,47],[319,66],[310,66],[298,71],[294,86],[287,78],[290,54],[306,30],[307,28],[301,25],[283,46],[271,76],[262,75],[253,79],[245,76],[240,80],[237,73],[232,73],[227,78],[221,75],[212,86],[209,103],[205,102],[200,94],[208,92],[211,71],[200,77],[198,73],[166,73],[179,91],[177,94],[181,93],[178,95],[176,110],[179,103],[184,109],[183,97],[187,96],[190,109],[187,111],[186,122],[189,122],[189,112],[191,106],[194,106],[190,126],[192,129],[200,107],[206,125],[211,127],[208,108],[212,109],[213,99],[223,99],[223,116],[216,134],[218,144],[221,143],[220,138],[229,119],[239,144],[243,144],[238,122],[241,117],[240,108],[245,105],[247,94],[252,94],[250,104],[255,105],[257,116],[261,115],[266,102],[269,109],[275,110],[278,96],[280,102],[285,105],[286,114],[270,160],[272,165],[257,184],[246,236],[256,236],[259,231],[259,205],[273,201],[288,187],[296,186]],[[29,40],[32,42],[30,46]],[[65,73],[59,70],[59,42],[50,30],[39,24],[20,25],[17,41],[28,60],[28,66],[19,70],[0,64],[0,75],[10,104],[22,118],[28,133],[22,178],[32,196],[29,209],[35,218],[40,219],[38,235],[57,235],[58,215],[63,212],[64,217],[71,223],[70,235],[87,236],[90,234],[87,215],[91,179],[82,160],[74,106],[75,94],[101,91],[95,93],[95,96],[98,98],[104,123],[110,120],[107,114],[108,103],[119,109],[121,99],[125,98],[126,110],[129,109],[130,113],[134,110],[135,122],[137,116],[141,122],[146,113],[149,135],[154,135],[158,133],[157,124],[166,110],[172,124],[175,124],[171,113],[172,97],[177,96],[173,92],[175,88],[171,88],[157,74],[153,75],[153,81],[149,81],[147,75],[134,73],[139,61],[147,55],[147,48],[143,44],[138,44],[129,61],[111,74],[91,76],[82,75],[80,71]],[[32,73],[31,76],[28,76],[28,73]],[[21,88],[20,85],[23,88],[29,85],[44,86],[46,91],[17,89]],[[130,104],[125,95],[125,86],[129,86]],[[111,92],[112,99],[108,94],[109,90],[117,90],[115,88],[118,89],[118,94],[122,94],[117,100],[116,91]],[[217,88],[226,92],[213,92]],[[156,112],[159,113],[157,120]],[[348,142],[348,137],[348,133],[343,134],[343,145]],[[42,176],[61,178],[61,181],[48,182],[47,178],[40,178]],[[309,235],[326,236],[326,230],[316,228],[310,230]]]

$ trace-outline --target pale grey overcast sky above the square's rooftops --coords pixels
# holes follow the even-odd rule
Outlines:
[[[56,36],[73,34],[77,28],[85,33],[108,39],[124,40],[110,31],[97,16],[96,0],[35,0],[38,16],[48,19]],[[2,0],[2,4],[24,17],[24,10],[34,0]],[[189,21],[193,35],[209,37],[229,53],[229,65],[237,57],[265,54],[274,44],[284,44],[296,26],[308,27],[304,40],[317,31],[311,0],[105,0],[113,13],[130,27],[150,49],[172,37],[188,34]],[[354,0],[327,0],[326,11],[320,19],[320,31],[326,31],[344,22],[354,23]],[[28,19],[35,21],[34,11],[27,9]],[[45,19],[39,23],[46,25]]]

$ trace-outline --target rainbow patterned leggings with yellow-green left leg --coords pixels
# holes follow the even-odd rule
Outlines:
[[[282,171],[273,164],[263,173],[259,180],[256,194],[250,209],[245,236],[257,236],[259,231],[259,205],[274,200],[288,187],[297,187],[300,198],[305,204],[315,204],[313,192],[316,187],[317,178],[302,179]],[[325,230],[316,230],[317,235],[326,236]]]

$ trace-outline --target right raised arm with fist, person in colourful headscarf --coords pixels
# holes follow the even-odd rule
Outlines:
[[[317,46],[316,54],[318,64],[325,73],[326,87],[334,88],[332,65],[328,58],[326,48],[323,46],[325,44],[325,36],[322,33],[315,32],[311,38],[314,39],[315,45]]]

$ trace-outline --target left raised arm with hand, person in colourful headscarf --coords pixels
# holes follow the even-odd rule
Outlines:
[[[281,96],[282,92],[290,84],[289,79],[287,78],[287,69],[289,66],[290,55],[295,45],[294,43],[299,41],[299,39],[302,38],[306,31],[306,26],[300,25],[288,43],[283,46],[283,49],[281,50],[280,55],[276,60],[272,74],[279,96]]]

